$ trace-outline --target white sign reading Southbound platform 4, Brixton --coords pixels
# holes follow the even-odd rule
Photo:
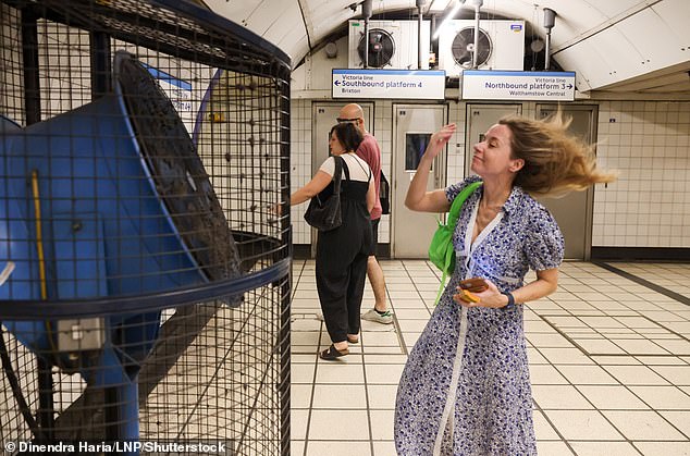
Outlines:
[[[443,100],[445,71],[333,70],[333,98]]]

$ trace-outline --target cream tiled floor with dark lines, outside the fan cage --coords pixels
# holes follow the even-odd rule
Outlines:
[[[439,278],[426,261],[382,267],[395,323],[364,321],[334,362],[316,355],[330,338],[313,262],[295,261],[293,455],[395,455],[397,381]],[[362,309],[372,299],[367,284]],[[526,310],[540,456],[690,455],[690,264],[566,262]]]

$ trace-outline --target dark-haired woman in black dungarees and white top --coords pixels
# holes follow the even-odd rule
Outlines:
[[[348,344],[359,341],[359,309],[365,291],[367,258],[373,251],[369,212],[375,192],[371,170],[357,157],[362,136],[352,123],[331,128],[331,155],[343,158],[341,209],[343,224],[319,232],[317,242],[317,289],[323,320],[333,344],[319,354],[322,359],[335,359],[349,353]],[[307,201],[322,193],[333,193],[335,161],[329,157],[313,178],[295,192],[291,206]]]

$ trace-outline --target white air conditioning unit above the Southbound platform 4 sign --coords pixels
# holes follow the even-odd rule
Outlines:
[[[369,21],[369,67],[417,70],[417,21]],[[431,27],[422,21],[421,64],[429,70],[429,42]],[[349,21],[350,69],[365,66],[365,22]]]

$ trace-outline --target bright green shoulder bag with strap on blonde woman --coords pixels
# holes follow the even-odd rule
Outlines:
[[[467,197],[481,185],[482,182],[478,181],[463,188],[463,192],[455,197],[453,205],[451,205],[451,211],[448,212],[446,223],[443,224],[439,221],[439,227],[431,238],[431,245],[429,246],[429,260],[431,260],[431,262],[434,263],[441,272],[443,272],[435,304],[439,304],[439,299],[441,298],[441,294],[445,287],[446,279],[453,275],[453,271],[455,271],[455,247],[453,247],[453,233],[455,233],[455,226],[457,225],[460,209],[463,208],[463,204]]]

